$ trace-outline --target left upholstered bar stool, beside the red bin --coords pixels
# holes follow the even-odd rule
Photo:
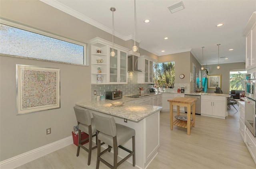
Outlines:
[[[94,120],[93,120],[93,118],[91,118],[90,112],[86,108],[82,108],[80,106],[74,106],[74,111],[76,114],[76,120],[77,120],[77,124],[78,124],[78,146],[77,146],[76,156],[78,157],[80,147],[82,147],[82,149],[84,149],[85,151],[88,152],[88,163],[87,164],[90,165],[92,150],[97,148],[97,145],[92,147],[92,137],[96,136],[96,127],[94,124]],[[88,134],[88,138],[81,140],[81,131]],[[95,134],[92,135],[93,133],[95,133]],[[87,140],[89,140],[88,148],[86,148],[86,147],[84,147],[84,145],[82,145],[82,143]]]

